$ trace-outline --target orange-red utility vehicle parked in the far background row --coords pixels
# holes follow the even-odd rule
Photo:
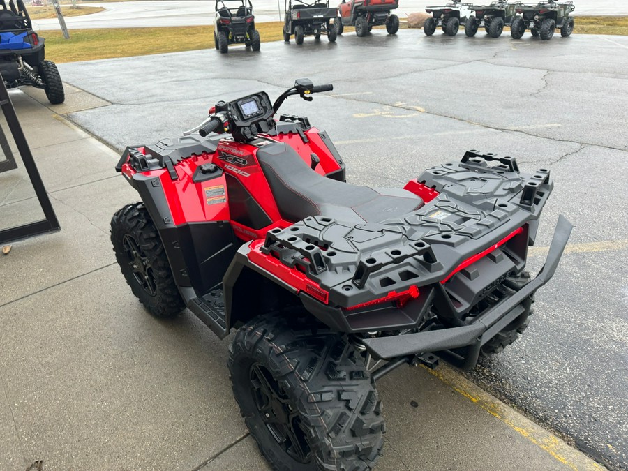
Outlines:
[[[353,26],[357,36],[361,38],[380,24],[386,25],[389,34],[395,34],[399,29],[399,17],[391,15],[390,10],[395,10],[398,6],[398,0],[343,0],[338,5],[338,34],[343,33],[345,26]]]

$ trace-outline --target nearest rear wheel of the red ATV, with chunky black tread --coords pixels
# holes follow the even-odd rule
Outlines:
[[[343,336],[258,316],[235,334],[228,366],[242,417],[274,469],[373,467],[384,444],[380,400]]]

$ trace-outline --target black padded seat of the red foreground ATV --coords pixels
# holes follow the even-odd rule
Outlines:
[[[347,223],[378,223],[423,206],[420,197],[398,188],[355,186],[313,171],[292,147],[268,144],[257,151],[281,217],[297,221],[327,216]]]

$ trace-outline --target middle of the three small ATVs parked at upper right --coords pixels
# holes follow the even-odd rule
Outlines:
[[[504,26],[511,27],[514,39],[523,36],[521,26],[523,19],[516,16],[517,3],[508,3],[506,0],[494,1],[490,5],[474,5],[469,8],[475,15],[470,15],[465,21],[465,34],[475,36],[478,28],[484,28],[491,38],[499,38]],[[514,25],[514,27],[512,27]]]

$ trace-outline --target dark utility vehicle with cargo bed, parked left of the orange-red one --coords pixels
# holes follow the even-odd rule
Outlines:
[[[294,42],[303,44],[305,36],[314,35],[320,39],[321,34],[327,34],[330,43],[336,42],[338,25],[334,23],[338,15],[338,8],[329,8],[327,1],[286,0],[285,20],[283,22],[283,40],[290,42],[294,34]]]

